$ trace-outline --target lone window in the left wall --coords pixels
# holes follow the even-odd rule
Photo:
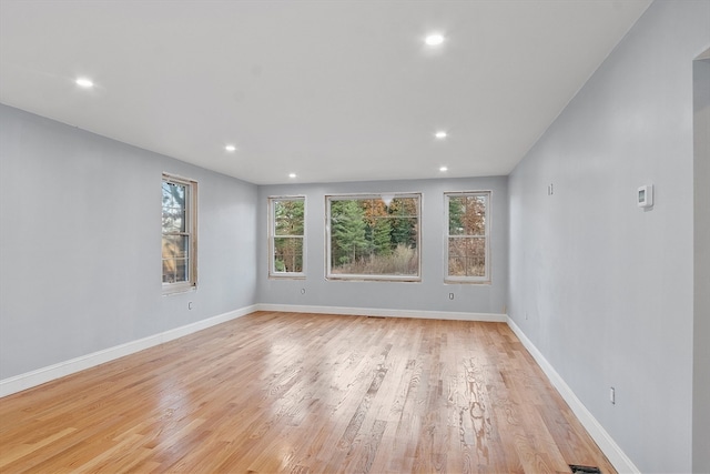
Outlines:
[[[163,174],[163,293],[197,284],[197,183]]]

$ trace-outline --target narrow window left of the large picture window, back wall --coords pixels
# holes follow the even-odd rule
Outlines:
[[[268,198],[268,275],[305,276],[305,198]]]

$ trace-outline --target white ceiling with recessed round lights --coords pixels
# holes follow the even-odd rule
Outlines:
[[[649,3],[0,0],[0,102],[257,184],[507,174]]]

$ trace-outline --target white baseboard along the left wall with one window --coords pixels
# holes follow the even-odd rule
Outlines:
[[[125,344],[115,345],[113,347],[104,349],[91,354],[81,355],[69,361],[38,369],[32,372],[27,372],[20,375],[0,380],[0,396],[10,395],[37,385],[41,385],[55,379],[73,374],[75,372],[83,371],[85,369],[90,369],[119,357],[123,357],[124,355],[143,351],[144,349],[163,344],[165,342],[182,337],[187,334],[192,334],[197,331],[202,331],[204,329],[224,323],[230,320],[234,320],[254,311],[256,311],[255,305],[242,307],[240,310],[230,311],[227,313],[219,314],[206,320],[196,321],[184,326],[175,327],[160,334],[153,334],[148,337],[139,339],[136,341],[126,342]]]

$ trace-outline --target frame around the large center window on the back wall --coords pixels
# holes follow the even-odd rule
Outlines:
[[[333,273],[331,271],[331,202],[368,199],[416,198],[417,199],[417,274],[416,275],[372,275],[357,273]],[[379,281],[379,282],[420,282],[422,281],[422,200],[420,192],[383,192],[365,194],[331,194],[325,196],[325,278],[334,281]]]

